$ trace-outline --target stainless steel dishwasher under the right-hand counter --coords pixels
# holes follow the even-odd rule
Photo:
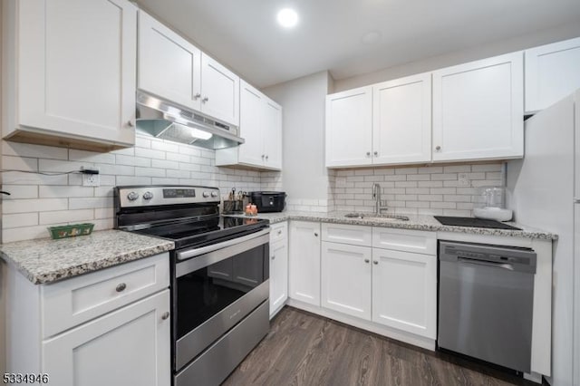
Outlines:
[[[536,253],[441,241],[438,346],[530,372]]]

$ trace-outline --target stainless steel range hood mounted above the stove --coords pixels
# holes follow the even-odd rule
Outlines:
[[[146,92],[137,92],[137,130],[212,150],[233,148],[245,142],[237,136],[237,127],[213,121]]]

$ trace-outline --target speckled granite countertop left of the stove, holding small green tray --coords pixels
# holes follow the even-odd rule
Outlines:
[[[169,251],[172,241],[120,230],[0,245],[0,256],[33,284],[47,284]]]

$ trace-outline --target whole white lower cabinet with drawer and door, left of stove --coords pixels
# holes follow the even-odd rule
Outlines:
[[[59,386],[171,384],[169,254],[34,285],[6,275],[6,371]]]

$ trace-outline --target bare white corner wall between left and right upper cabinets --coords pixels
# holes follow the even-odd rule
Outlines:
[[[324,111],[328,72],[316,72],[262,90],[283,108],[281,186],[288,208],[328,206],[328,171],[324,167]],[[292,207],[291,207],[292,206]]]

